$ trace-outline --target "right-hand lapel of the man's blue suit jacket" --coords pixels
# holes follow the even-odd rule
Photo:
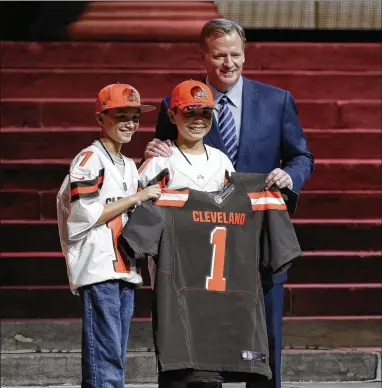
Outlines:
[[[253,132],[256,128],[256,101],[258,93],[256,86],[247,78],[243,77],[243,98],[241,108],[241,128],[239,139],[239,150],[236,161],[236,167],[240,166],[241,159],[245,154],[245,150],[251,142]]]

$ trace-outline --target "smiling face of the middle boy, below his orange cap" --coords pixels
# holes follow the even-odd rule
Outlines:
[[[212,108],[196,108],[183,112],[169,111],[170,120],[178,128],[178,138],[194,143],[203,139],[211,129]]]

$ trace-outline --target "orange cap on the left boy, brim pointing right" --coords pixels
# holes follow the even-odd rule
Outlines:
[[[141,96],[137,89],[127,84],[111,84],[105,86],[97,96],[96,113],[112,108],[139,108],[141,112],[151,112],[152,105],[141,104]]]

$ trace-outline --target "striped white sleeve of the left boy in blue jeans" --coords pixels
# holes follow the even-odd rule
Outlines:
[[[99,200],[105,170],[99,156],[83,151],[73,160],[69,171],[70,211],[68,237],[78,240],[95,225],[104,206]]]

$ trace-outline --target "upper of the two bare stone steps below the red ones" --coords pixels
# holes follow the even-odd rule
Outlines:
[[[379,348],[382,316],[284,317],[284,351]],[[1,352],[70,353],[81,349],[81,319],[4,320]],[[133,319],[128,350],[154,348],[150,318]]]

